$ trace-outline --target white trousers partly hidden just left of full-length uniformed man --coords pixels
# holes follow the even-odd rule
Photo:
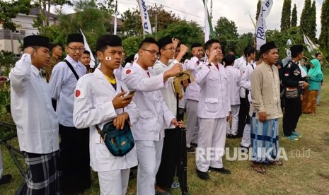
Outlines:
[[[197,103],[196,100],[186,100],[186,146],[190,148],[190,143],[197,143],[199,132],[199,122],[197,120]]]

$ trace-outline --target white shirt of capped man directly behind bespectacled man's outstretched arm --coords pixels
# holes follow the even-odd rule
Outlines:
[[[164,73],[168,69],[171,69],[173,65],[178,63],[177,60],[174,60],[169,64],[169,66],[166,66],[166,64],[163,64],[160,60],[156,61],[152,69],[150,71],[154,75],[159,75],[161,73]],[[177,114],[177,100],[176,100],[176,95],[175,95],[175,88],[173,85],[173,78],[168,78],[168,87],[161,89],[161,95],[163,97],[163,100],[166,102],[166,105],[168,106],[169,110],[171,113],[173,113],[173,116],[176,116]],[[168,129],[168,126],[165,126],[166,129]]]

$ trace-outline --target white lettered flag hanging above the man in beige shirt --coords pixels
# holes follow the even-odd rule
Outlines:
[[[256,49],[259,51],[260,46],[266,43],[266,18],[271,11],[273,5],[273,0],[262,1],[262,6],[260,7],[260,13],[258,16],[256,24]]]

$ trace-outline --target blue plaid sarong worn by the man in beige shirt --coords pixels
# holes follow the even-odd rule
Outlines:
[[[269,163],[277,160],[279,152],[279,119],[260,122],[253,117],[250,126],[253,161]]]

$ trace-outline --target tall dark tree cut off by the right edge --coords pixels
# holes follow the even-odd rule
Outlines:
[[[321,35],[318,39],[319,45],[323,52],[325,52],[325,57],[329,56],[329,0],[324,0],[321,10]]]

